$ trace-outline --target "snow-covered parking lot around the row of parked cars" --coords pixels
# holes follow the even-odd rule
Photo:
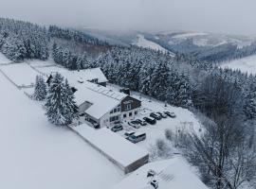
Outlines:
[[[111,85],[111,87],[114,90],[119,90],[118,86]],[[146,126],[139,126],[137,129],[129,125],[129,122],[121,123],[123,129],[117,133],[123,137],[127,137],[125,136],[125,132],[130,130],[139,133],[146,133],[146,139],[138,142],[138,146],[149,149],[152,145],[155,145],[155,141],[157,139],[165,138],[166,129],[171,129],[174,133],[178,130],[199,132],[201,129],[200,123],[196,120],[193,113],[186,109],[166,105],[163,102],[150,99],[147,96],[141,96],[141,94],[138,93],[133,93],[132,95],[142,102],[141,111],[137,114],[137,117],[134,120],[143,120],[144,117],[152,118],[150,116],[152,112],[155,112],[155,114],[156,112],[174,112],[175,114],[174,118],[167,116],[166,118],[156,120],[155,125],[147,123]]]

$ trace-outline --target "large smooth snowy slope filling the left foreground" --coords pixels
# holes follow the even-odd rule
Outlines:
[[[104,189],[122,173],[0,74],[0,188]]]

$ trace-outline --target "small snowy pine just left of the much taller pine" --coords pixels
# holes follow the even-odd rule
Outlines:
[[[37,76],[35,81],[35,89],[33,94],[33,99],[35,100],[45,100],[46,99],[46,82],[44,77]]]

